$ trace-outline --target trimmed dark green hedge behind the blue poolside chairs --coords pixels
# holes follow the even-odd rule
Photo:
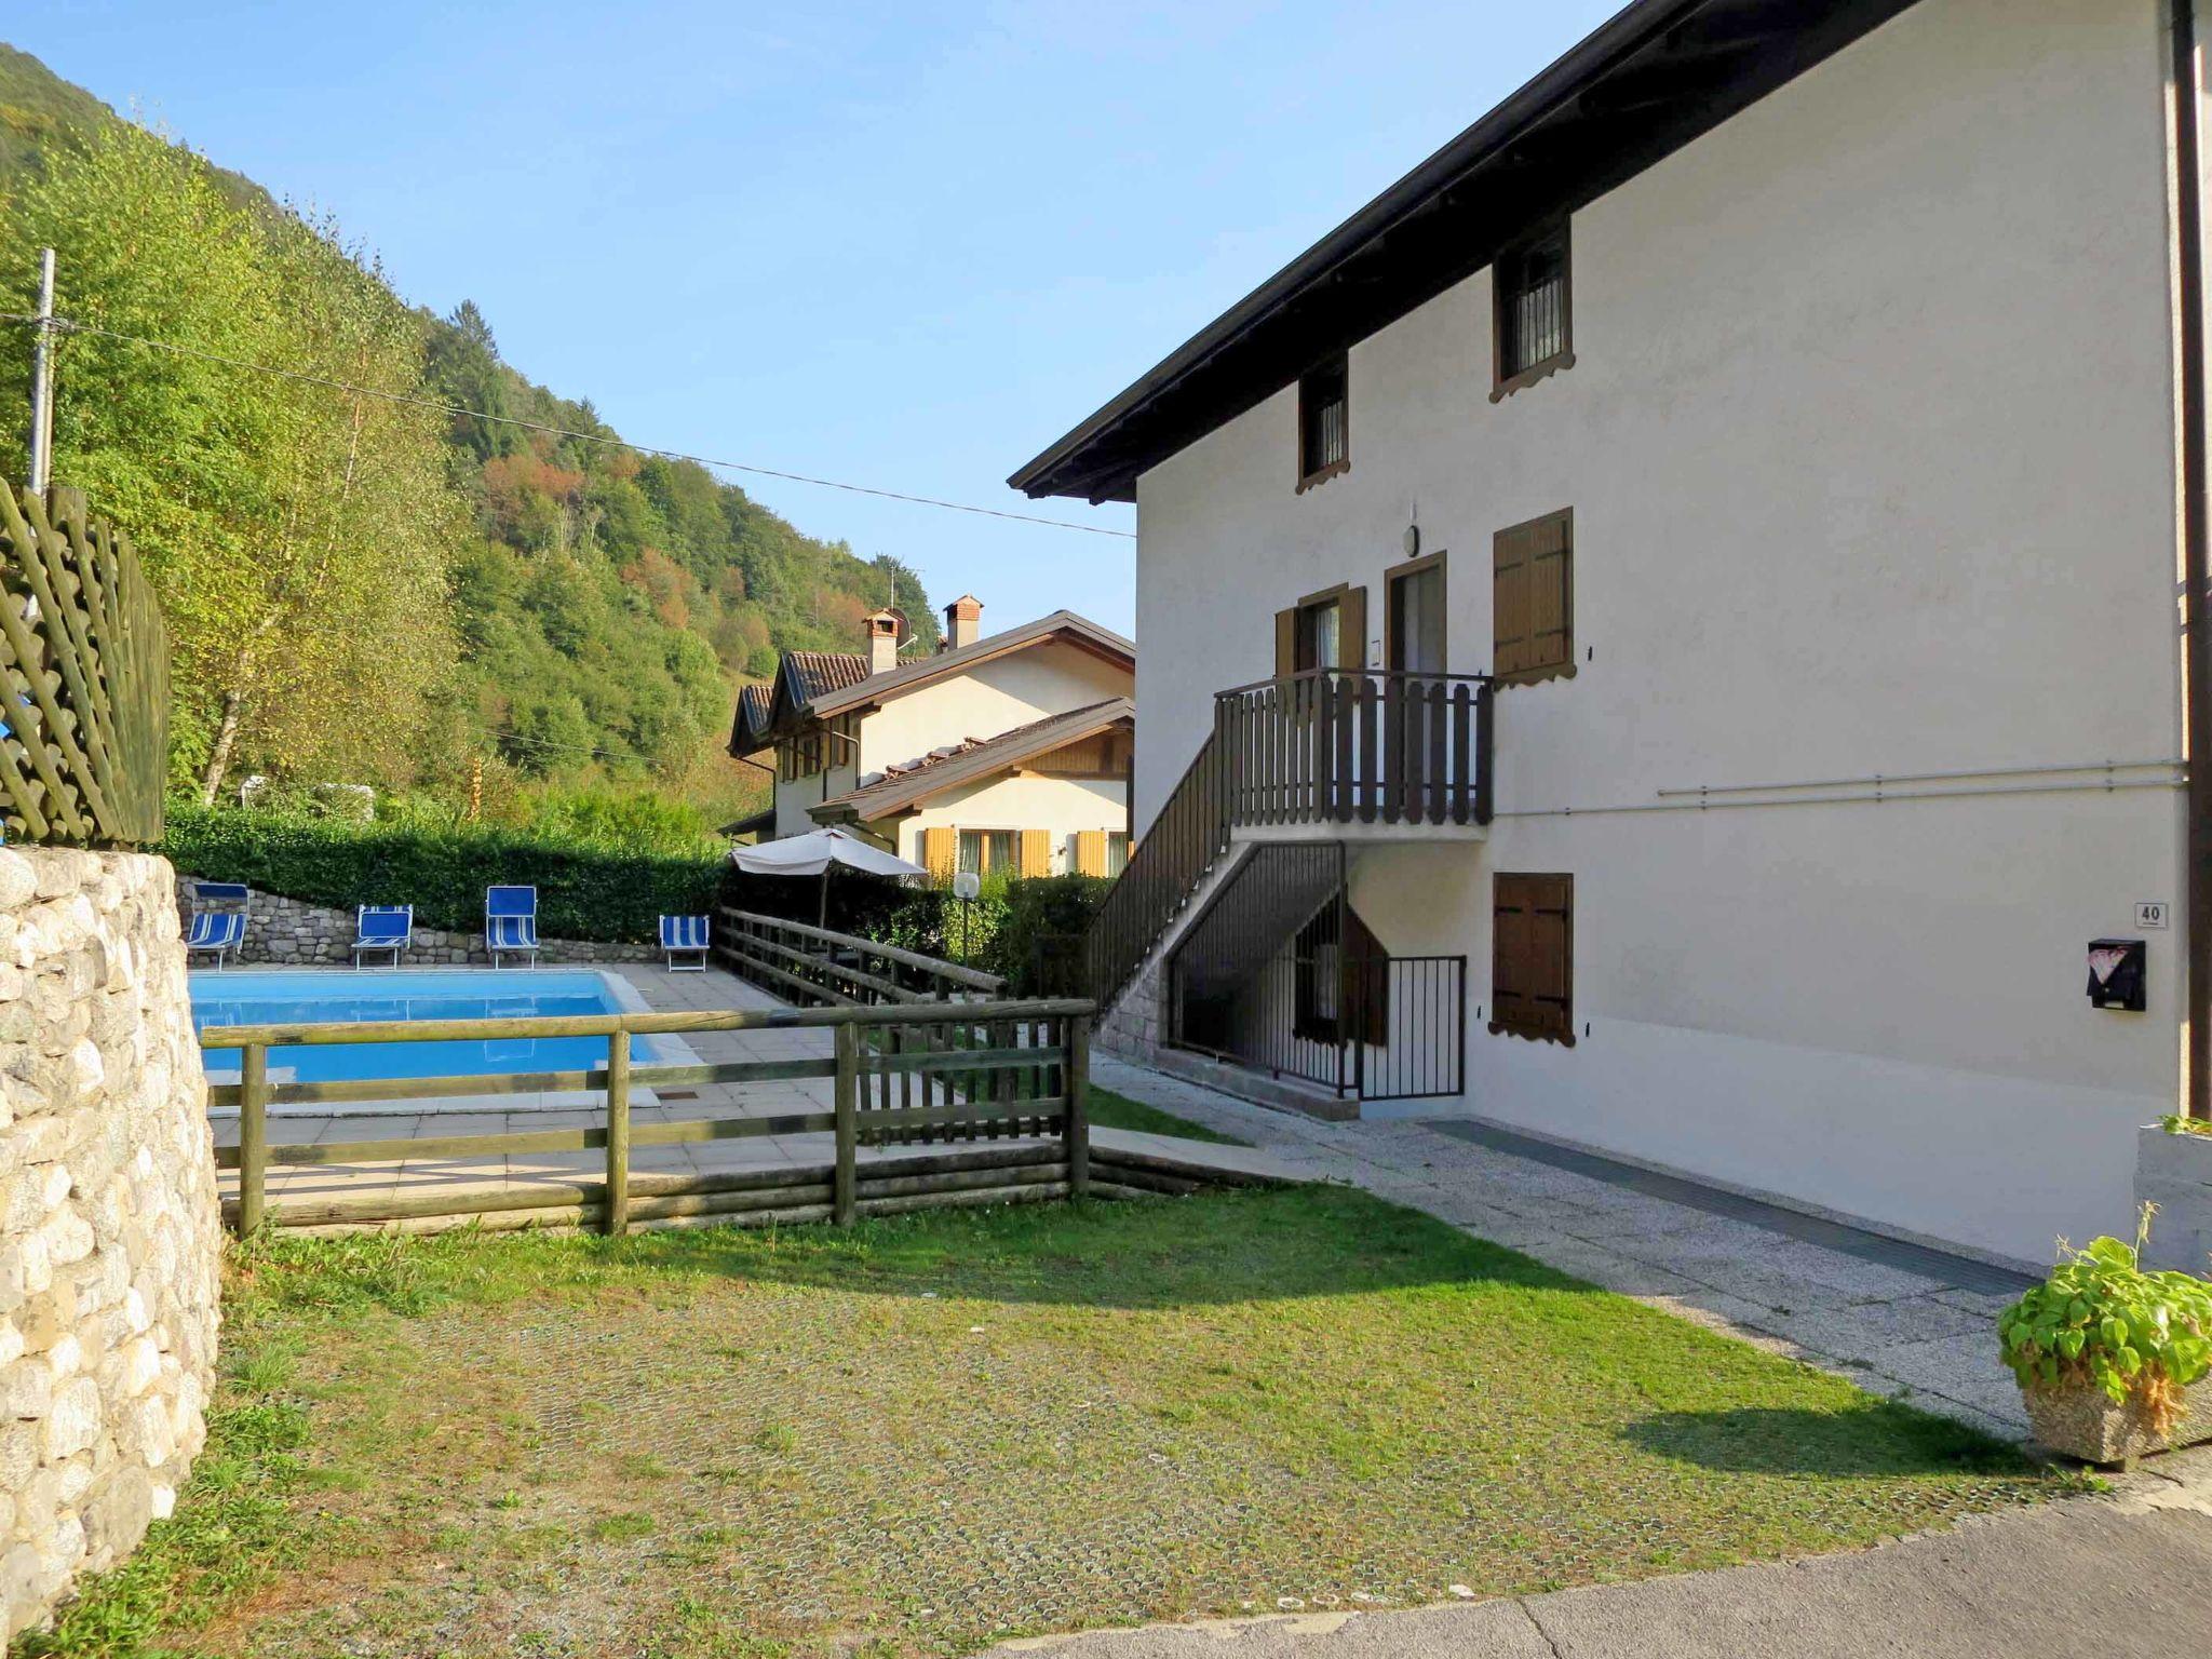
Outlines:
[[[726,860],[555,845],[511,830],[345,823],[237,807],[168,807],[159,849],[181,876],[243,880],[310,905],[414,905],[422,927],[473,933],[484,889],[538,887],[551,938],[655,940],[661,916],[710,907]]]

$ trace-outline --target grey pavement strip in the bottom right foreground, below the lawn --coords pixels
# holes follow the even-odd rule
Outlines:
[[[1298,1610],[993,1648],[1051,1659],[2174,1659],[2212,1644],[2212,1449],[2101,1498],[1849,1555],[1407,1613]]]

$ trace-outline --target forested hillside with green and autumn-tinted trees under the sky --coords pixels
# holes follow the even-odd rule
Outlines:
[[[721,757],[741,679],[779,648],[854,648],[876,604],[936,639],[894,557],[622,447],[500,361],[473,305],[405,305],[327,219],[0,46],[0,310],[31,307],[42,246],[62,314],[111,332],[62,341],[55,476],[155,575],[179,787],[369,781],[526,816],[650,785],[734,812],[763,792]],[[15,325],[0,407],[27,378]],[[22,471],[13,418],[0,471]]]

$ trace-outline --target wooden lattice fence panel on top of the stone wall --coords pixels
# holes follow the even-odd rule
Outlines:
[[[0,830],[9,841],[161,838],[168,630],[131,538],[0,487]]]

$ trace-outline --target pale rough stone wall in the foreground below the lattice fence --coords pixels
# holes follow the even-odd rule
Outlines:
[[[177,1502],[221,1230],[170,867],[0,847],[0,1617]]]

